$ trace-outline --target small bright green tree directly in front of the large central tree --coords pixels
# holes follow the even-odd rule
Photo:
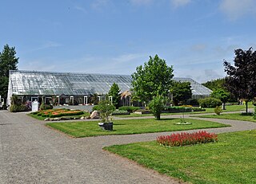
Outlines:
[[[150,111],[153,112],[154,117],[157,120],[160,120],[161,112],[166,104],[166,98],[163,96],[154,96],[153,99],[150,101],[149,108]]]

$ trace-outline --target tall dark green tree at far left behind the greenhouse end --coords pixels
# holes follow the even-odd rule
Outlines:
[[[17,70],[18,57],[15,47],[4,45],[0,52],[0,95],[6,99],[8,92],[9,70]]]

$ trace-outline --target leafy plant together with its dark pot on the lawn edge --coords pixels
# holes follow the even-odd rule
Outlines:
[[[114,105],[109,100],[101,100],[98,104],[98,112],[100,115],[101,123],[98,126],[102,130],[113,131],[113,122],[110,121],[110,115],[114,112]]]

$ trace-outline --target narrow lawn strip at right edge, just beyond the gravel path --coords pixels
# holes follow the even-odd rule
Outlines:
[[[198,115],[200,118],[218,118],[218,119],[235,119],[242,121],[256,122],[253,115],[242,115],[241,113],[221,114],[221,115]]]

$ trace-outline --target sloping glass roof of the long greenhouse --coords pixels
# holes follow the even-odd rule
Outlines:
[[[126,75],[10,70],[10,88],[14,95],[102,95],[109,92],[113,83],[118,84],[121,92],[130,90],[131,80],[131,76]],[[190,81],[193,95],[210,95],[210,89],[190,78],[174,80]]]

